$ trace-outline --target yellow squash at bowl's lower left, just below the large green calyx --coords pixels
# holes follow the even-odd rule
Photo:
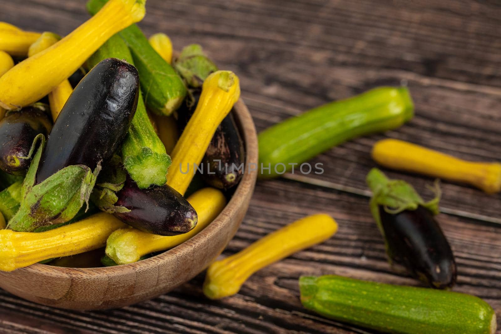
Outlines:
[[[0,270],[12,271],[103,247],[111,232],[126,226],[113,215],[101,212],[47,232],[0,230]]]

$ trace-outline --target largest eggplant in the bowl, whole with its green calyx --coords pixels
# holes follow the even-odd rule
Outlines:
[[[88,200],[101,166],[113,156],[136,112],[136,68],[115,58],[96,65],[77,85],[23,183],[21,208],[9,222],[16,231],[72,219]]]

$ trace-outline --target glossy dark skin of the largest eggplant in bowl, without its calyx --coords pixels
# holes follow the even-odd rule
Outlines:
[[[134,117],[139,75],[116,58],[96,65],[75,87],[47,140],[36,184],[70,165],[95,169],[122,143]]]

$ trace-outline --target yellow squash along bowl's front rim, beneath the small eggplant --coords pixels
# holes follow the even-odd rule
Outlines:
[[[188,197],[198,222],[188,233],[161,236],[141,232],[135,228],[124,228],[113,232],[106,242],[106,254],[118,264],[139,261],[143,255],[175,247],[204,229],[226,205],[226,198],[220,190],[203,188]]]

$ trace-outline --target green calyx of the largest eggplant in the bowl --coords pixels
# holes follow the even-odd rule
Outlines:
[[[19,211],[9,221],[8,228],[15,231],[32,232],[42,226],[65,223],[84,203],[88,208],[90,194],[101,170],[100,164],[94,172],[85,165],[67,166],[35,185],[45,137],[38,135],[31,151],[38,142],[40,145],[23,182]]]

